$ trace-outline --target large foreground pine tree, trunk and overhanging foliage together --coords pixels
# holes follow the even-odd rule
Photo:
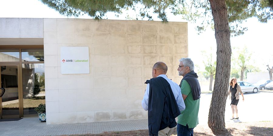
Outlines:
[[[225,128],[226,90],[231,67],[230,32],[234,35],[243,34],[247,29],[240,27],[240,24],[247,18],[257,17],[259,21],[267,22],[273,16],[272,0],[193,0],[189,4],[183,0],[41,1],[62,15],[88,14],[95,19],[101,19],[106,12],[120,14],[122,10],[132,8],[141,18],[147,17],[148,20],[152,20],[149,11],[153,11],[162,21],[167,21],[165,10],[169,8],[174,15],[182,14],[184,18],[193,22],[196,21],[196,18],[203,17],[203,22],[197,26],[197,30],[204,30],[206,26],[214,24],[217,61],[208,119],[208,125],[213,131]],[[140,10],[136,10],[137,5],[141,5]]]

